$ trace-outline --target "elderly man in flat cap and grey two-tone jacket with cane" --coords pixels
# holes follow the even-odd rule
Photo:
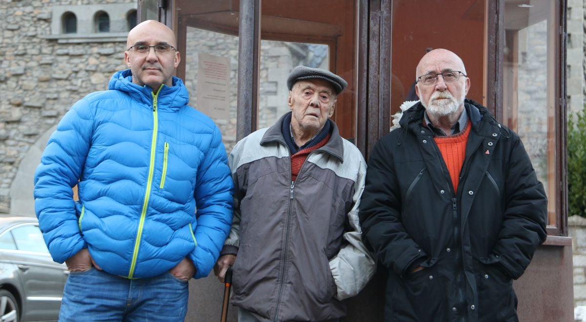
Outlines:
[[[236,204],[214,272],[234,265],[241,322],[339,321],[375,269],[358,220],[366,166],[329,119],[346,81],[298,66],[287,85],[291,112],[229,156]]]

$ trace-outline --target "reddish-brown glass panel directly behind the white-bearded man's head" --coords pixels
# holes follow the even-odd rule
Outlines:
[[[419,100],[415,68],[425,53],[437,48],[451,50],[464,60],[471,80],[467,97],[486,105],[485,12],[485,0],[393,1],[391,114],[404,101]]]

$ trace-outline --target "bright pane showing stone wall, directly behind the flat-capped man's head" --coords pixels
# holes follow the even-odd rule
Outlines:
[[[258,128],[266,128],[289,112],[287,77],[298,65],[329,69],[328,45],[261,41]]]

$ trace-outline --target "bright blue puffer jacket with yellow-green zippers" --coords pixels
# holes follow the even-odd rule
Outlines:
[[[155,93],[124,70],[109,89],[67,112],[35,173],[36,215],[54,261],[87,247],[106,272],[148,278],[189,256],[194,277],[207,276],[232,218],[219,129],[187,105],[179,78]]]

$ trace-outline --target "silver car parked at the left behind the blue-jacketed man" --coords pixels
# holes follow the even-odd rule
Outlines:
[[[57,320],[68,275],[36,218],[0,217],[0,321]]]

